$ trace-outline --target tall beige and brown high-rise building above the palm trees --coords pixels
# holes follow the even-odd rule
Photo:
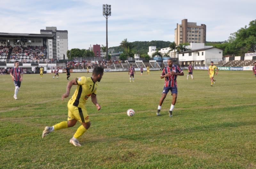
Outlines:
[[[181,20],[174,30],[175,43],[206,43],[206,25],[196,25],[196,22],[188,22],[188,19]]]

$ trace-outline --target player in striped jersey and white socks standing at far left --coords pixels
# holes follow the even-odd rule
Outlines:
[[[15,61],[15,67],[11,69],[10,75],[12,76],[12,81],[14,81],[14,96],[13,98],[17,100],[17,94],[18,91],[20,90],[20,85],[23,77],[23,70],[22,68],[19,67],[20,63],[19,61]]]

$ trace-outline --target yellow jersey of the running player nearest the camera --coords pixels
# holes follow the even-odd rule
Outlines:
[[[73,106],[85,108],[86,100],[91,96],[91,94],[97,93],[98,85],[97,82],[94,83],[91,77],[77,77],[76,78],[76,91],[72,98],[68,101],[68,104]]]

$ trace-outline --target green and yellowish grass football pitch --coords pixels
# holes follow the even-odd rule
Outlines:
[[[207,71],[178,77],[178,99],[156,110],[164,79],[107,72],[98,83],[100,111],[88,100],[90,129],[69,143],[74,127],[42,139],[45,126],[67,120],[66,74],[24,75],[18,100],[9,75],[0,76],[0,168],[256,168],[256,78],[248,71],[220,71],[211,87]],[[70,79],[91,74],[73,73]],[[75,87],[72,88],[69,98]],[[135,115],[126,115],[127,109]]]

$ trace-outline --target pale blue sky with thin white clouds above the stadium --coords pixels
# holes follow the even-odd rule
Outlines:
[[[111,5],[108,47],[133,41],[174,41],[176,24],[206,25],[206,41],[228,40],[230,33],[256,19],[255,0],[0,0],[0,32],[40,33],[46,26],[68,30],[68,49],[106,46],[102,4]]]

